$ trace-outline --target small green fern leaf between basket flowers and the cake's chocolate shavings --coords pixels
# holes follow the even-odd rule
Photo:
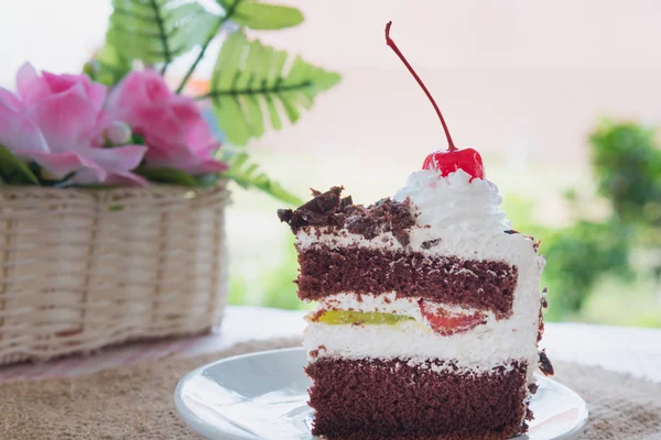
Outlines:
[[[271,180],[259,169],[257,164],[250,163],[248,153],[223,148],[220,160],[229,164],[229,169],[221,176],[234,180],[241,188],[257,188],[285,204],[303,205],[299,197],[284,189],[279,183]]]

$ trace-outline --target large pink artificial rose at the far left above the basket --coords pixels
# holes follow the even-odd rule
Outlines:
[[[30,64],[17,75],[19,95],[0,88],[0,144],[17,157],[75,184],[138,184],[131,173],[145,153],[141,145],[104,148],[101,107],[106,87],[85,75],[42,76]]]

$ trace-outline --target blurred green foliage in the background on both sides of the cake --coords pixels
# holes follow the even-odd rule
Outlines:
[[[587,142],[596,191],[564,189],[571,222],[541,224],[533,216],[535,199],[517,194],[505,195],[502,209],[517,230],[542,239],[549,320],[661,327],[661,150],[655,131],[606,120]],[[296,298],[292,283],[297,267],[293,238],[277,254],[267,265],[232,264],[230,304],[310,307]]]

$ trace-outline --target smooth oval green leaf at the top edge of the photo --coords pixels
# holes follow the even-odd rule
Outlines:
[[[234,8],[232,20],[250,29],[284,29],[303,22],[303,14],[296,8],[261,3],[254,0],[225,0],[226,10]]]

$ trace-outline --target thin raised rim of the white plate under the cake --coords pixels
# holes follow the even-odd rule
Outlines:
[[[230,361],[235,362],[235,361],[238,361],[241,359],[263,356],[263,355],[268,355],[271,353],[280,353],[280,352],[303,352],[303,353],[305,353],[305,348],[304,346],[290,346],[290,348],[284,348],[284,349],[263,350],[263,351],[256,351],[256,352],[251,352],[251,353],[237,354],[234,356],[224,358],[224,359],[219,359],[217,361],[209,362],[207,364],[198,366],[197,369],[186,373],[182,378],[180,378],[180,381],[176,384],[176,387],[174,388],[174,396],[173,396],[174,397],[174,406],[176,408],[180,419],[188,428],[191,428],[198,435],[203,436],[204,438],[208,439],[208,438],[210,438],[209,436],[223,435],[223,432],[220,432],[220,431],[213,430],[213,429],[209,430],[208,429],[209,424],[199,419],[199,417],[197,417],[197,415],[195,413],[193,413],[186,406],[186,404],[184,403],[184,400],[181,397],[182,396],[181,391],[184,387],[184,385],[186,384],[186,382],[188,382],[192,377],[199,375],[203,371],[210,369],[213,366],[226,363],[226,362],[230,362]],[[539,372],[534,372],[534,375],[538,380],[553,383],[554,386],[562,387],[562,388],[571,392],[572,394],[576,395],[583,402],[583,406],[585,408],[583,414],[579,416],[581,420],[577,422],[576,427],[574,427],[574,429],[572,429],[571,431],[563,432],[560,437],[556,437],[554,440],[571,440],[571,439],[575,439],[577,435],[583,433],[583,431],[585,430],[585,428],[587,426],[587,421],[589,419],[589,408],[587,406],[587,402],[585,402],[583,396],[581,396],[578,393],[576,393],[568,386],[564,385],[563,383],[555,381],[553,378],[546,377],[543,374],[540,374]],[[528,436],[525,436],[525,435],[517,436],[509,440],[519,440],[519,439],[520,440],[528,439]]]

